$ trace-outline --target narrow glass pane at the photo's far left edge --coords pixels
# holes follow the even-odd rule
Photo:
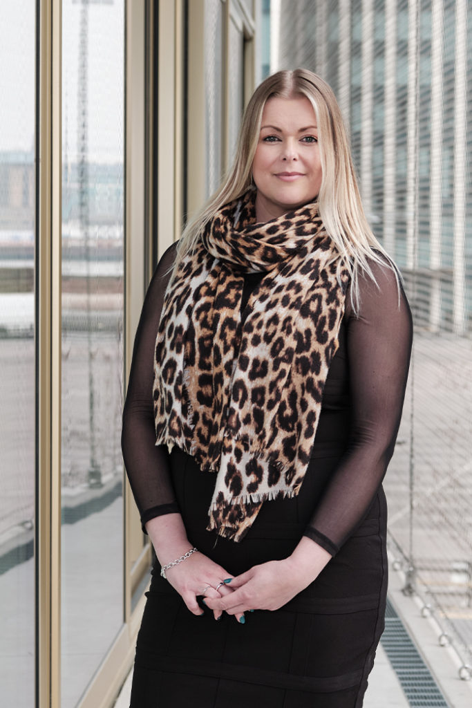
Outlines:
[[[35,691],[35,0],[0,6],[0,696]]]

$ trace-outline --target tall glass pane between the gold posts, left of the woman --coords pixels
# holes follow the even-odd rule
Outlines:
[[[123,621],[124,12],[62,5],[62,708]]]

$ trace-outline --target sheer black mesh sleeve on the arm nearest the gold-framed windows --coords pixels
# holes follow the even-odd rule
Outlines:
[[[154,346],[164,293],[175,258],[175,244],[161,258],[151,280],[134,339],[129,384],[123,409],[122,452],[143,525],[161,514],[178,512],[165,445],[156,446],[152,386]]]

